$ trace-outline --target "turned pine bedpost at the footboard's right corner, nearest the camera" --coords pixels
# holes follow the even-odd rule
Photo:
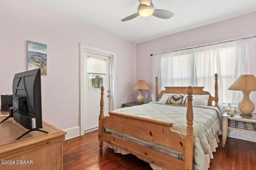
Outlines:
[[[188,107],[187,107],[187,127],[185,137],[185,170],[194,170],[194,135],[193,135],[193,108],[192,108],[192,86],[188,86]]]

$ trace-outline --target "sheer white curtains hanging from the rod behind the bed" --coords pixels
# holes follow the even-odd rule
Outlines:
[[[246,37],[153,55],[152,82],[158,76],[159,92],[164,86],[204,86],[214,96],[217,73],[219,106],[223,111],[226,103],[237,104],[242,100],[242,92],[228,90],[236,78],[241,74],[256,74],[255,39]]]

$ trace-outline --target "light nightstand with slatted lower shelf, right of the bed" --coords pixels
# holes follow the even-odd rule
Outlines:
[[[222,148],[224,148],[224,145],[227,140],[228,129],[256,132],[256,113],[252,113],[252,116],[242,116],[239,114],[239,112],[235,112],[234,116],[227,114],[227,111],[223,113]]]

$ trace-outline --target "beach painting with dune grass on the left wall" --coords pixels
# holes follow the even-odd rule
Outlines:
[[[47,74],[47,45],[28,41],[28,70],[41,68],[41,75]]]

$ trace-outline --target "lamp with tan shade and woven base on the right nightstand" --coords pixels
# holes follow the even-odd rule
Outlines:
[[[240,115],[252,116],[251,113],[255,107],[249,98],[249,94],[251,91],[256,91],[256,77],[252,74],[240,75],[228,90],[240,90],[243,92],[244,98],[238,103]]]

